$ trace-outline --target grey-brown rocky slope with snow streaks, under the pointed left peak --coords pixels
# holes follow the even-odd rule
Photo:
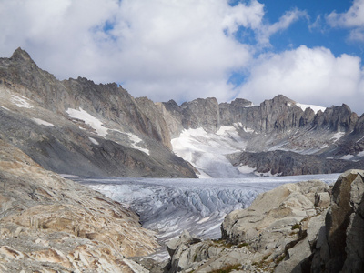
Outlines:
[[[116,84],[58,81],[20,48],[0,59],[0,136],[43,167],[81,176],[196,177],[170,151],[158,107]],[[156,108],[156,110],[153,110]]]

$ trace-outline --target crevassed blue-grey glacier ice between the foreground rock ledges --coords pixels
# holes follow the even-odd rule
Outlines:
[[[219,238],[220,225],[232,210],[248,207],[261,192],[285,183],[319,179],[328,184],[339,174],[244,178],[73,178],[104,193],[140,216],[163,244],[183,229],[200,238]]]

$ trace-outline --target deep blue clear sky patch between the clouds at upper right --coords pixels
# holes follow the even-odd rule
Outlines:
[[[261,1],[267,10],[266,16],[270,23],[278,21],[279,17],[287,10],[298,8],[307,12],[308,17],[288,27],[279,35],[271,37],[271,44],[278,50],[287,46],[308,45],[328,47],[336,56],[342,53],[353,55],[362,54],[362,46],[347,41],[348,31],[330,27],[325,21],[325,16],[333,11],[345,13],[352,2],[349,0],[265,0]],[[314,25],[318,22],[317,26]],[[345,42],[346,41],[346,42]],[[292,44],[292,45],[290,45]]]

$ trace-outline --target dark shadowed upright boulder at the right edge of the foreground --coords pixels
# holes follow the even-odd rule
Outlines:
[[[363,176],[363,170],[349,170],[335,183],[313,272],[364,272]]]

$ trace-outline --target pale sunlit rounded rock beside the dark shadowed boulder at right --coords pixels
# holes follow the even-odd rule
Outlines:
[[[225,217],[221,226],[222,237],[239,243],[268,230],[288,233],[304,218],[317,214],[315,195],[328,190],[328,185],[313,180],[282,185],[263,193],[247,209],[233,211]]]

